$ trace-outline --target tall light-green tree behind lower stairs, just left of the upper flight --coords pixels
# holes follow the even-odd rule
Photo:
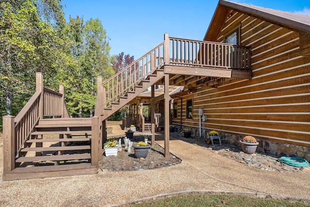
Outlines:
[[[83,17],[70,16],[65,31],[71,54],[78,62],[70,74],[63,74],[62,81],[68,87],[66,102],[72,115],[90,116],[96,101],[97,76],[107,79],[113,75],[109,38],[99,19],[90,19],[84,24]]]

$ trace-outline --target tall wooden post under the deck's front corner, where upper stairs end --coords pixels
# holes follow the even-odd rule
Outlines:
[[[165,74],[165,118],[164,118],[164,127],[165,127],[165,157],[169,157],[169,116],[170,116],[170,96],[169,96],[169,74]]]

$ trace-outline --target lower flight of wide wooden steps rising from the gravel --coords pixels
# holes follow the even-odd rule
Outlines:
[[[39,120],[4,180],[96,174],[91,163],[91,118]]]

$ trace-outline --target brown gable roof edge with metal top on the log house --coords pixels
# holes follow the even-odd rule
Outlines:
[[[222,22],[228,16],[231,9],[238,10],[250,16],[256,16],[258,18],[276,23],[286,28],[292,28],[297,31],[310,33],[310,16],[228,0],[219,0],[216,11],[212,17],[209,28],[203,40],[215,41],[214,38],[216,38]]]

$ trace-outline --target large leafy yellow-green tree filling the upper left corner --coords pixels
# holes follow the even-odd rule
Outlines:
[[[12,92],[11,114],[20,111],[34,91],[35,72],[43,72],[47,85],[54,85],[56,69],[66,62],[59,32],[63,25],[60,0],[0,2],[1,116],[6,115],[7,92]]]

